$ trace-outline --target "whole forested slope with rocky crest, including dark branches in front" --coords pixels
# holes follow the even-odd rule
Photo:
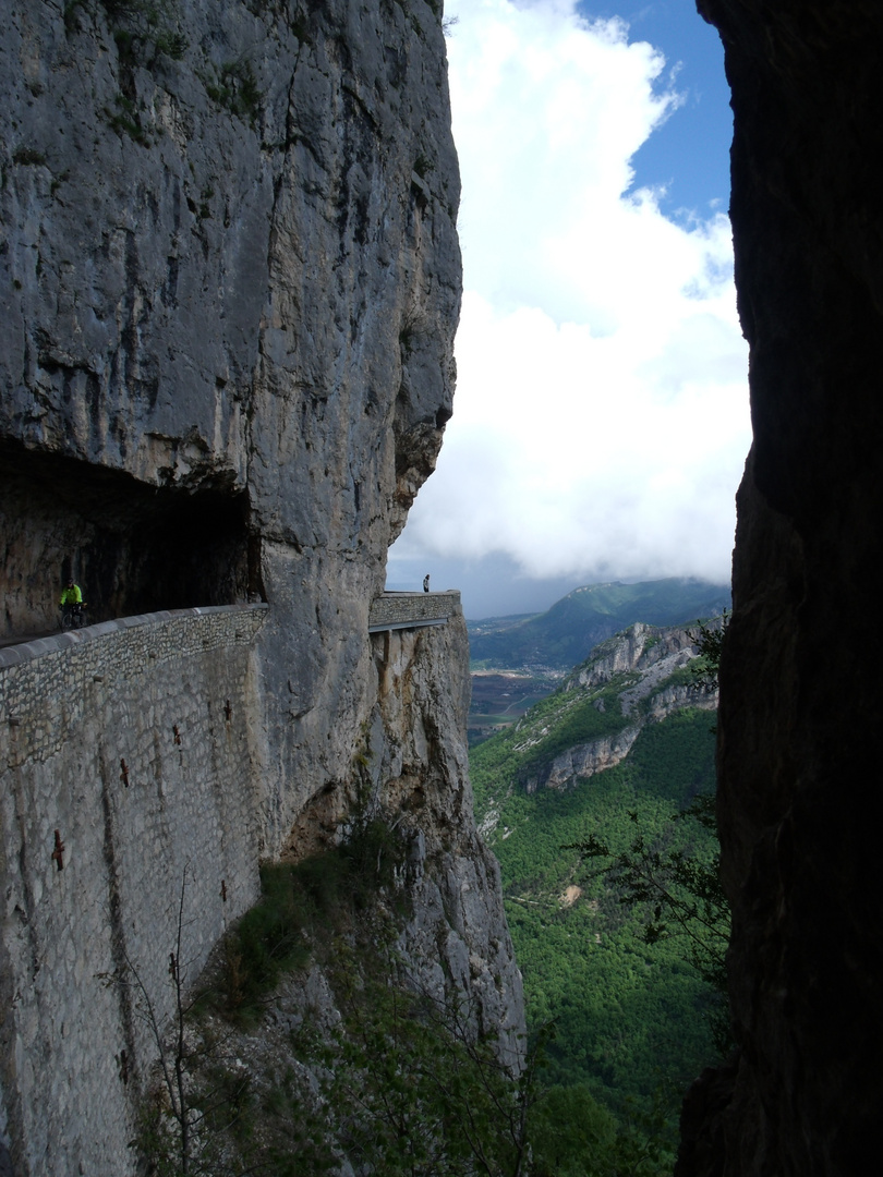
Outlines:
[[[631,626],[471,752],[559,1177],[670,1173],[683,1093],[728,1044],[719,625]]]

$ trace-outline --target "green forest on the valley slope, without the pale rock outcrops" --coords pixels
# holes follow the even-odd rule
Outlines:
[[[623,685],[602,692],[609,704]],[[624,726],[618,706],[597,709],[598,694],[590,705],[556,692],[527,724],[476,747],[476,809],[485,830],[493,824],[487,838],[500,863],[529,1028],[553,1028],[547,1082],[591,1097],[620,1126],[637,1118],[664,1139],[684,1089],[716,1057],[719,998],[695,967],[686,937],[649,936],[655,905],[623,902],[629,896],[603,872],[603,859],[586,860],[579,846],[600,839],[615,856],[637,836],[662,858],[679,851],[713,864],[713,833],[673,817],[713,792],[713,717],[675,712],[646,724],[616,767],[572,790],[526,792],[525,779],[562,747]]]

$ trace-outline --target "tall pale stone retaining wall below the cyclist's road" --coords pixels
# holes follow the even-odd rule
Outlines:
[[[179,910],[192,978],[258,895],[265,617],[127,618],[0,651],[0,1139],[19,1142],[16,1177],[128,1171],[155,1046],[109,978],[131,962],[165,1023]]]

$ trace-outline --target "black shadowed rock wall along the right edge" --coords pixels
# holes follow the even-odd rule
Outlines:
[[[755,443],[718,752],[741,1052],[688,1099],[678,1173],[859,1173],[883,1105],[883,9],[699,8],[732,87]]]

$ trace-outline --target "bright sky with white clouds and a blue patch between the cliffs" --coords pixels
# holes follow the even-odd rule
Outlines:
[[[469,617],[729,579],[750,444],[731,120],[691,0],[446,0],[463,175],[458,387],[390,587]]]

